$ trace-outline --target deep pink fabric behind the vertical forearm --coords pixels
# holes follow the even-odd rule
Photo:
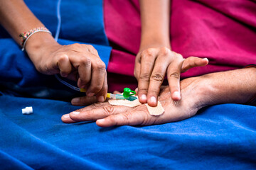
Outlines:
[[[139,50],[139,1],[104,1],[105,30],[112,55],[107,71],[133,76]],[[183,57],[207,57],[210,64],[182,78],[256,64],[256,2],[172,0],[171,48]]]

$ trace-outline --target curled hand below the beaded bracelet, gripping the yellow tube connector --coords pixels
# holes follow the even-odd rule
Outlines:
[[[44,36],[47,41],[36,45],[35,41],[40,40],[38,36]],[[79,88],[87,89],[87,97],[96,96],[97,101],[105,101],[107,73],[105,63],[100,59],[97,50],[86,44],[60,45],[48,36],[48,33],[35,34],[26,44],[28,56],[38,72],[60,74],[61,77],[78,81]],[[80,102],[76,103],[78,105]]]

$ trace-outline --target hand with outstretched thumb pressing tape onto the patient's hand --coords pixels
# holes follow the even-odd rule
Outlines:
[[[167,76],[171,98],[181,100],[180,74],[193,67],[208,64],[207,59],[188,57],[171,51],[168,47],[146,48],[138,53],[135,60],[134,77],[138,81],[138,96],[141,103],[156,106],[160,86]]]

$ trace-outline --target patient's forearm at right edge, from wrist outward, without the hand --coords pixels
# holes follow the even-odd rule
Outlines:
[[[246,103],[256,94],[256,68],[206,74],[206,105]]]

